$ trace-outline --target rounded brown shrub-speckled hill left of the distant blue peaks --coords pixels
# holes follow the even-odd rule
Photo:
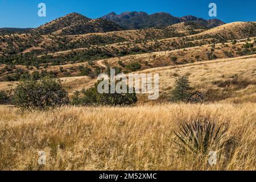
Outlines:
[[[52,20],[32,30],[41,35],[77,35],[92,32],[110,32],[122,30],[117,24],[105,19],[89,19],[81,14],[71,13]]]

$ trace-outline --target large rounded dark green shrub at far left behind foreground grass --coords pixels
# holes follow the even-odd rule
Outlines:
[[[44,110],[65,104],[68,104],[68,93],[58,79],[23,80],[14,89],[14,105],[21,109]]]

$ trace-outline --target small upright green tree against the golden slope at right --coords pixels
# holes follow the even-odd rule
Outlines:
[[[191,86],[187,76],[177,77],[172,90],[172,101],[185,101],[191,95]]]

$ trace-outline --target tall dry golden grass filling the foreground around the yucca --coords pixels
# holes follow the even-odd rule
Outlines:
[[[0,169],[255,170],[256,104],[166,104],[62,107],[45,112],[0,106]],[[174,143],[180,123],[209,119],[229,126],[232,158],[183,154]],[[39,166],[38,152],[46,152]]]

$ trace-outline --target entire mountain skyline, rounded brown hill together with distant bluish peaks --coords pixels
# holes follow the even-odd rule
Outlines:
[[[225,24],[218,19],[205,20],[191,15],[178,18],[168,13],[155,13],[148,15],[145,12],[133,11],[118,15],[112,12],[97,19],[90,19],[78,13],[71,13],[34,29],[0,28],[0,35],[14,33],[23,34],[27,32],[36,32],[40,35],[80,35],[94,32],[167,27],[181,22],[193,22],[206,28],[213,28]]]

